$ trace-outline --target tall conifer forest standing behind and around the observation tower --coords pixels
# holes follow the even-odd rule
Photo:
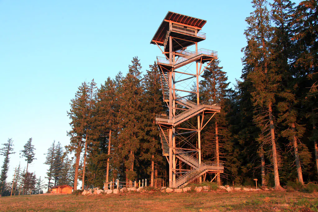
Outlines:
[[[219,55],[199,81],[200,101],[221,105],[201,131],[201,160],[224,164],[220,184],[254,185],[257,178],[262,187],[282,189],[288,182],[317,182],[318,3],[253,0],[252,5],[240,79],[228,81]],[[54,141],[46,153],[48,183],[28,172],[36,160],[30,138],[11,191],[6,179],[14,139],[2,146],[2,195],[36,194],[59,184],[76,188],[80,181],[82,189],[117,179],[167,185],[169,164],[155,122],[156,114],[169,113],[161,71],[156,62],[141,64],[138,56],[127,68],[127,74],[105,77],[102,85],[94,79],[79,85],[67,111],[70,143]],[[188,85],[196,89],[191,80]]]

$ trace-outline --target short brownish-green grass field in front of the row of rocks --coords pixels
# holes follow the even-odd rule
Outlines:
[[[318,194],[301,192],[25,195],[0,198],[1,211],[318,211]]]

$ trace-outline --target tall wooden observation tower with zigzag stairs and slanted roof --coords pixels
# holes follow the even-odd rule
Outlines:
[[[169,162],[170,188],[183,187],[196,179],[201,183],[206,173],[216,176],[224,170],[219,162],[201,161],[201,130],[221,109],[219,104],[199,101],[199,76],[218,58],[216,51],[197,47],[206,38],[200,31],[205,23],[168,12],[150,42],[163,54],[157,57],[157,65],[169,115],[156,115],[156,124],[160,128],[162,154]]]

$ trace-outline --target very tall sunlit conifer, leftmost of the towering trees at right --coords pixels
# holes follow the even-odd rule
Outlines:
[[[275,188],[282,189],[278,173],[277,138],[273,114],[275,97],[279,92],[277,84],[280,80],[280,76],[271,67],[270,40],[273,31],[269,22],[270,14],[267,10],[267,1],[253,0],[252,4],[255,10],[250,17],[245,19],[249,27],[245,30],[248,46],[244,48],[244,61],[252,66],[247,80],[252,81],[252,102],[256,108],[254,122],[262,130],[259,141],[261,141],[261,145],[268,141],[271,144]],[[267,122],[268,124],[266,124]]]

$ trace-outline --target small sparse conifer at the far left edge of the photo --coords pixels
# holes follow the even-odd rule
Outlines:
[[[7,143],[2,144],[3,147],[0,149],[0,155],[4,156],[3,165],[1,167],[1,174],[0,174],[0,195],[3,195],[3,191],[6,184],[6,179],[8,177],[9,171],[9,162],[10,162],[10,154],[14,154],[13,152],[13,140],[12,138],[8,139]]]

